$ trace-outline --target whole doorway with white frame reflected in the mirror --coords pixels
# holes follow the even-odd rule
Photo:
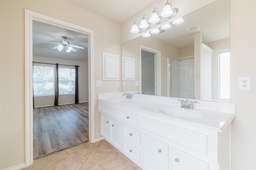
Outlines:
[[[161,96],[161,51],[140,45],[140,92]]]

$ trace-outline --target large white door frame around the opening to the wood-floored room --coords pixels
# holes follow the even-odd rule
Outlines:
[[[94,126],[94,31],[25,9],[25,164],[33,163],[33,43],[32,21],[88,35],[89,142],[95,142]]]

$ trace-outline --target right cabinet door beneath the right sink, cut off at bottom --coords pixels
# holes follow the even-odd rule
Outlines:
[[[208,163],[181,150],[169,147],[170,170],[208,170]]]

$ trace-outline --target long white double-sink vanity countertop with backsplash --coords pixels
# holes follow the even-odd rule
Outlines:
[[[218,132],[222,132],[235,117],[235,105],[230,103],[197,100],[195,109],[190,110],[181,108],[177,98],[133,94],[133,99],[126,99],[123,94],[99,94],[98,99],[121,108],[153,113]]]

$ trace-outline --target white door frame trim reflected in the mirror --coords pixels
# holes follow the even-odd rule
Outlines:
[[[150,47],[146,47],[146,46],[143,46],[143,45],[140,45],[140,93],[142,93],[142,70],[141,70],[141,51],[144,50],[144,51],[149,51],[151,53],[155,53],[156,54],[156,67],[155,67],[155,82],[157,84],[155,84],[155,94],[156,96],[161,96],[161,51],[159,50],[156,50],[156,49],[152,49]]]

